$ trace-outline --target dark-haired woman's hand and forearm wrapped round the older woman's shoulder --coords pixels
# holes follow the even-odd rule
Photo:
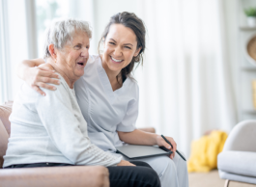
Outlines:
[[[51,59],[47,59],[50,61]],[[45,95],[40,87],[47,90],[56,90],[54,86],[46,83],[59,85],[59,76],[55,71],[50,70],[47,66],[43,66],[43,59],[24,60],[16,67],[16,74],[19,78],[24,80],[30,87],[32,87],[39,94]]]

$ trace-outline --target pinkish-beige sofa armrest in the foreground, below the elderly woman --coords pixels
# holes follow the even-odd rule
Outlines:
[[[102,166],[73,166],[0,170],[1,187],[109,187]]]

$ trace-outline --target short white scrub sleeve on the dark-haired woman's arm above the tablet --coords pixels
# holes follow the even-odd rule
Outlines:
[[[138,118],[138,107],[139,107],[139,88],[133,89],[135,96],[128,102],[127,113],[124,119],[117,125],[117,131],[131,132],[136,129],[136,120]]]

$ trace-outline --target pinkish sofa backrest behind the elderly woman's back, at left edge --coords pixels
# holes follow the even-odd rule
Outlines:
[[[4,105],[0,105],[0,120],[2,120],[8,134],[11,133],[11,122],[9,116],[12,113],[13,101],[6,102]]]

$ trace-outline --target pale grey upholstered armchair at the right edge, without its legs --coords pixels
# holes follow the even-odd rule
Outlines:
[[[223,179],[256,184],[256,120],[243,120],[230,132],[217,157]]]

